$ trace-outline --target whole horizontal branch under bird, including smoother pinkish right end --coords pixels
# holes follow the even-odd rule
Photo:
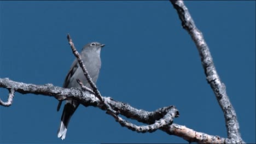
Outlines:
[[[75,99],[78,100],[80,104],[84,106],[95,106],[99,107],[101,110],[106,110],[105,105],[102,105],[101,101],[95,97],[94,94],[88,91],[84,91],[81,95],[81,91],[78,89],[69,89],[62,87],[55,87],[52,84],[46,85],[33,85],[22,82],[15,82],[9,80],[8,78],[0,78],[0,87],[13,89],[15,92],[21,94],[42,94],[46,96],[55,97],[58,100],[64,99]],[[167,134],[176,135],[182,137],[184,140],[189,142],[200,142],[200,143],[223,143],[227,142],[219,136],[212,136],[208,134],[203,134],[196,132],[182,125],[171,124],[174,117],[178,117],[179,113],[174,106],[162,107],[158,110],[149,112],[144,110],[138,110],[129,104],[122,103],[120,101],[115,101],[110,97],[102,97],[104,102],[109,104],[113,110],[119,111],[120,115],[127,118],[135,119],[138,122],[150,124],[146,126],[137,126],[132,123],[125,121],[124,119],[116,119],[123,127],[127,127],[131,130],[135,130],[138,133],[153,132],[156,129],[161,129]],[[110,113],[110,115],[113,113]],[[115,115],[114,115],[115,116]],[[118,118],[118,117],[116,117]],[[171,124],[171,125],[170,125]]]

